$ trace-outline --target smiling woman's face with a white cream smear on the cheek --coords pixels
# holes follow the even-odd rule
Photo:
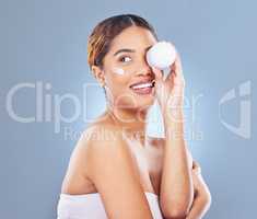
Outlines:
[[[145,54],[155,43],[150,31],[138,26],[124,30],[113,39],[103,60],[103,77],[107,97],[116,107],[145,110],[153,104],[154,74]]]

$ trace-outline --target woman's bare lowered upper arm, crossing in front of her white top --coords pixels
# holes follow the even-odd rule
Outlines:
[[[107,217],[152,219],[138,170],[122,137],[90,140],[86,147],[90,178],[101,195]]]

